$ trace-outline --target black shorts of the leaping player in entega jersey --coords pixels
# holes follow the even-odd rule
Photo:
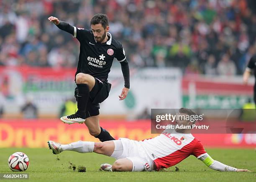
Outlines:
[[[86,118],[91,116],[97,116],[100,114],[100,104],[106,98],[108,98],[110,92],[111,84],[107,81],[101,81],[95,78],[95,85],[92,88],[87,102],[86,107]],[[78,88],[75,88],[74,96],[77,99]]]

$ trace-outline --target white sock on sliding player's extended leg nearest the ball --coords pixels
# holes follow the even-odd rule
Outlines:
[[[61,152],[64,150],[71,150],[75,152],[80,152],[80,153],[88,153],[88,152],[93,152],[94,149],[94,142],[83,142],[83,141],[78,141],[78,142],[73,142],[67,145],[61,145]]]

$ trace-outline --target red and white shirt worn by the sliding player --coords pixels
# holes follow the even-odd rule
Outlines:
[[[163,132],[157,137],[139,142],[154,160],[156,170],[176,165],[189,155],[200,158],[206,154],[200,140],[192,134]]]

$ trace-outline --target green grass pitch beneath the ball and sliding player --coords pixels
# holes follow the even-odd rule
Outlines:
[[[253,149],[207,149],[213,159],[252,172],[218,172],[211,170],[194,156],[161,172],[104,172],[99,170],[100,164],[112,164],[113,158],[70,151],[53,155],[48,148],[0,148],[0,173],[24,173],[12,172],[8,167],[8,158],[14,152],[24,152],[28,155],[30,164],[25,173],[29,174],[29,181],[36,182],[256,181],[256,151]],[[85,166],[86,172],[73,171],[74,165],[76,168]],[[175,167],[178,167],[179,171],[175,171]]]

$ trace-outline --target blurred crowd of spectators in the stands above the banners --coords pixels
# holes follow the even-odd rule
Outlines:
[[[256,52],[255,0],[0,0],[0,65],[76,67],[79,42],[49,16],[90,29],[107,14],[131,67],[241,74]]]

